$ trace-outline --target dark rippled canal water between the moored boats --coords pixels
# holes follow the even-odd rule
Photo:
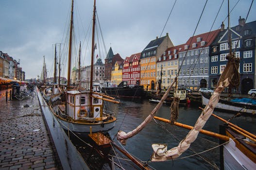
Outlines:
[[[154,109],[155,103],[144,101],[120,101],[121,104],[109,104],[112,112],[117,114],[117,121],[115,127],[108,133],[116,143],[116,134],[119,130],[130,132],[135,129]],[[193,126],[201,114],[198,108],[201,103],[191,103],[190,105],[179,106],[178,122]],[[170,108],[163,105],[157,112],[156,116],[165,119],[170,118]],[[223,119],[230,119],[233,114],[222,113],[214,111],[214,113]],[[241,116],[232,119],[230,122],[248,130],[249,132],[256,133],[256,118],[249,116]],[[217,118],[210,117],[206,122],[203,129],[219,133],[219,125],[223,122]],[[158,120],[152,120],[139,134],[127,139],[126,145],[123,146],[129,153],[136,156],[142,161],[149,161],[148,165],[156,170],[216,170],[220,168],[219,147],[212,149],[219,145],[219,140],[213,137],[200,134],[194,143],[190,145],[188,151],[183,153],[180,158],[166,162],[150,162],[150,157],[153,154],[151,147],[154,143],[168,144],[168,150],[176,147],[179,142],[187,136],[189,130],[177,126],[173,126]],[[205,153],[201,153],[207,151]],[[198,154],[201,153],[201,154]],[[120,161],[120,160],[119,160]],[[125,161],[121,161],[124,162]],[[125,167],[126,166],[126,167]],[[127,167],[128,166],[128,167]],[[125,169],[134,169],[124,165]]]

